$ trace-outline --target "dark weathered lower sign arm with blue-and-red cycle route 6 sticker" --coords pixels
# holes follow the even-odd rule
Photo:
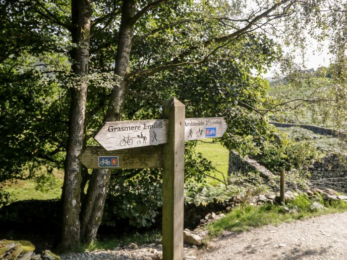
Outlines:
[[[101,146],[87,146],[78,156],[88,169],[122,168],[143,169],[163,167],[163,146],[149,146],[117,151],[106,151]]]

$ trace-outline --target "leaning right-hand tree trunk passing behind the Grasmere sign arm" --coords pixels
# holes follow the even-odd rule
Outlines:
[[[121,108],[124,104],[124,94],[127,86],[125,74],[128,71],[134,31],[131,18],[134,14],[135,0],[123,1],[115,59],[115,73],[121,77],[121,80],[119,86],[115,86],[112,90],[106,121],[119,121]],[[92,243],[96,239],[96,233],[102,220],[110,176],[111,170],[93,170],[81,215],[81,240],[84,242]]]

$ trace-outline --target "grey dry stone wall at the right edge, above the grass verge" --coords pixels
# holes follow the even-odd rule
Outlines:
[[[347,193],[347,155],[330,153],[309,167],[311,183]]]

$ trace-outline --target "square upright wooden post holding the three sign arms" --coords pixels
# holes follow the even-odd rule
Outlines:
[[[163,260],[183,259],[185,106],[173,98],[163,106],[169,119],[163,165]]]

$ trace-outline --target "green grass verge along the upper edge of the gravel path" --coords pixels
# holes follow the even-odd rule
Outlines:
[[[322,198],[320,203],[322,203]],[[278,225],[281,222],[289,222],[297,219],[306,219],[313,216],[343,212],[347,210],[347,203],[343,201],[334,202],[332,205],[327,205],[325,209],[319,211],[310,210],[310,205],[313,201],[307,197],[299,195],[292,203],[288,203],[289,208],[295,206],[299,208],[298,213],[284,213],[284,207],[278,205],[262,205],[262,206],[239,206],[231,210],[222,219],[212,222],[206,226],[211,237],[219,236],[224,230],[243,232],[252,227],[263,225]]]

